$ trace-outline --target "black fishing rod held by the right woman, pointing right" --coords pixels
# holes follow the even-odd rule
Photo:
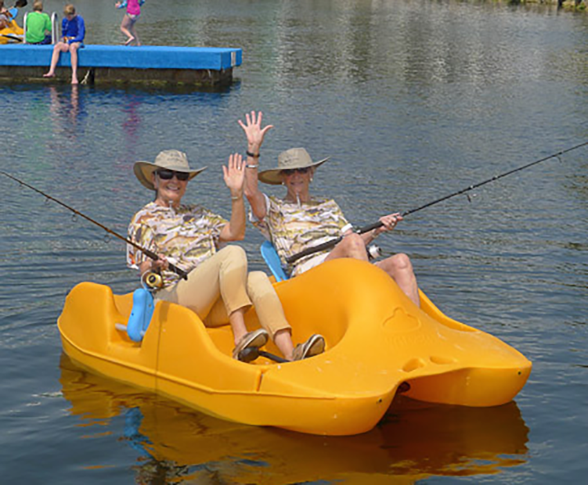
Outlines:
[[[436,199],[434,201],[425,203],[417,208],[405,210],[404,212],[401,212],[401,217],[406,217],[408,214],[413,214],[414,212],[419,212],[419,210],[423,210],[425,208],[431,207],[431,205],[435,205],[440,202],[446,201],[447,199],[451,199],[452,197],[455,197],[455,196],[458,196],[461,194],[465,194],[466,192],[469,192],[470,190],[474,190],[474,189],[477,189],[478,187],[481,187],[481,185],[486,185],[486,183],[497,181],[498,179],[502,179],[502,177],[506,177],[507,175],[514,174],[515,172],[520,172],[521,170],[525,170],[529,167],[532,167],[533,165],[537,165],[538,163],[542,163],[544,161],[551,160],[551,158],[559,158],[564,153],[571,152],[572,150],[576,150],[576,149],[583,147],[585,145],[588,145],[588,141],[585,141],[584,143],[580,143],[579,145],[576,145],[574,147],[564,149],[561,152],[557,152],[553,155],[549,155],[544,158],[540,158],[540,160],[536,160],[534,162],[527,163],[526,165],[522,165],[522,167],[517,167],[513,170],[508,170],[508,172],[504,172],[502,174],[495,175],[493,177],[490,177],[490,179],[486,179],[485,181],[475,183],[474,185],[469,185],[468,187],[466,187],[464,189],[457,190],[456,192],[452,192],[451,194],[440,197],[439,199]],[[382,221],[378,221],[378,222],[374,222],[372,224],[369,224],[369,226],[363,226],[362,228],[358,228],[358,229],[356,229],[355,232],[357,232],[358,234],[363,234],[364,232],[369,232],[371,230],[378,229],[383,225],[384,224]],[[329,248],[332,248],[333,246],[336,246],[337,244],[340,243],[340,241],[342,239],[343,239],[343,236],[340,236],[340,237],[336,237],[334,239],[331,239],[329,241],[325,241],[324,243],[319,244],[318,246],[313,246],[312,248],[306,248],[306,249],[300,251],[300,253],[296,253],[295,255],[291,255],[289,257],[286,257],[286,262],[288,264],[292,264],[293,262],[296,262],[301,257],[312,255],[314,253],[320,253],[320,251],[324,251],[325,249],[329,249]]]

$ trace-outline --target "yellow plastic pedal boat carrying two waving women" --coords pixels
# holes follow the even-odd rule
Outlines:
[[[365,262],[328,262],[275,289],[294,342],[321,333],[324,354],[242,363],[231,358],[230,327],[207,329],[167,302],[156,304],[143,341],[134,342],[116,326],[127,322],[132,294],[88,282],[68,294],[57,324],[66,354],[95,372],[222,419],[313,434],[374,428],[403,383],[412,399],[493,406],[511,401],[531,373],[513,347],[443,315],[422,292],[417,308]],[[259,327],[255,309],[246,322]]]

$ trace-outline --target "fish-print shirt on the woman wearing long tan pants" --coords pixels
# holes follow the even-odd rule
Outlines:
[[[219,249],[221,229],[228,221],[200,205],[177,209],[150,202],[135,214],[129,224],[129,239],[163,254],[170,263],[186,272],[196,268]],[[127,266],[138,269],[147,259],[142,251],[127,244]],[[172,271],[163,271],[165,286],[178,281]]]

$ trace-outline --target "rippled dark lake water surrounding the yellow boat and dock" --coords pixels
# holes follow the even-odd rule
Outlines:
[[[110,2],[76,6],[87,42],[122,42]],[[588,139],[586,15],[427,0],[149,0],[138,31],[145,44],[241,47],[244,64],[229,89],[212,93],[0,86],[1,170],[120,232],[150,196],[132,163],[172,147],[210,167],[187,199],[228,214],[220,167],[244,152],[237,119],[251,109],[275,125],[262,165],[292,146],[331,156],[314,190],[335,196],[358,225]],[[55,325],[67,291],[95,281],[127,292],[136,277],[122,244],[3,178],[1,481],[582,482],[587,158],[583,148],[542,163],[378,240],[412,257],[445,313],[534,367],[508,405],[396,403],[376,429],[347,438],[218,421],[73,366]],[[256,269],[260,242],[249,230]]]

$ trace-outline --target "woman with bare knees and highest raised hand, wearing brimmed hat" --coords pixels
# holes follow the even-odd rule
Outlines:
[[[315,170],[329,158],[314,162],[304,148],[282,152],[277,159],[277,168],[258,173],[259,149],[264,136],[273,128],[272,125],[262,128],[261,117],[261,112],[251,111],[246,114],[246,122],[239,120],[248,143],[245,194],[251,205],[253,225],[273,243],[282,266],[288,269],[291,276],[296,276],[330,259],[352,257],[367,261],[367,245],[382,232],[394,229],[396,223],[402,221],[401,215],[395,213],[380,217],[383,226],[371,232],[362,235],[353,232],[333,199],[311,196],[310,185]],[[285,185],[284,199],[261,192],[258,179],[270,185]],[[286,258],[341,235],[343,239],[331,250],[302,257],[290,266],[286,264]],[[407,255],[393,255],[376,262],[376,266],[386,271],[400,289],[420,306],[416,277]]]

